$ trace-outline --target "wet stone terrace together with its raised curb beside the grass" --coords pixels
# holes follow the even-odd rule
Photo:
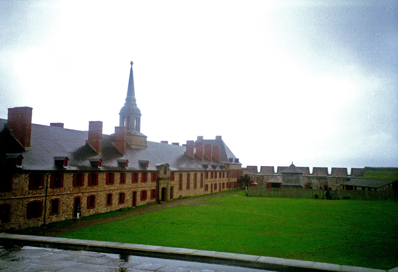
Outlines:
[[[0,272],[398,272],[199,249],[0,233]]]

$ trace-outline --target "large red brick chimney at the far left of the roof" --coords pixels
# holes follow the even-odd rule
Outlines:
[[[30,150],[30,134],[32,129],[32,110],[29,107],[8,109],[8,129],[12,136],[25,150]]]

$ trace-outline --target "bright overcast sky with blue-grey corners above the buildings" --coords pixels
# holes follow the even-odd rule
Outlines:
[[[244,166],[398,166],[397,1],[0,0],[0,118],[119,125]]]

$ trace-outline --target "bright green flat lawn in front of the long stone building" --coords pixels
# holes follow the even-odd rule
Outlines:
[[[244,197],[101,224],[61,237],[398,267],[396,201]]]

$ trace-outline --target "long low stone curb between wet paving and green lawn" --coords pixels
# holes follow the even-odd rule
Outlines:
[[[161,247],[154,245],[139,245],[130,243],[115,243],[105,241],[92,241],[68,239],[58,237],[19,235],[0,233],[2,245],[29,245],[37,247],[51,247],[58,249],[85,250],[103,253],[128,254],[145,257],[177,259],[192,262],[205,262],[212,264],[225,264],[242,266],[263,270],[288,271],[288,272],[387,272],[387,270],[291,260],[274,257],[254,256],[217,251],[197,249],[183,249],[178,247]],[[398,272],[398,268],[388,270]]]

